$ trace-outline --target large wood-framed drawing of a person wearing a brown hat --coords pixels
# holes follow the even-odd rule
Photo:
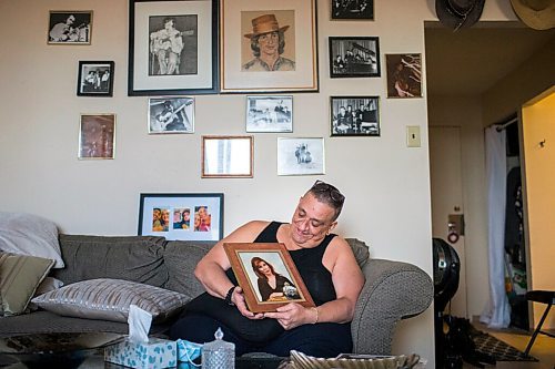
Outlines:
[[[222,93],[319,91],[316,0],[221,0],[220,18]]]

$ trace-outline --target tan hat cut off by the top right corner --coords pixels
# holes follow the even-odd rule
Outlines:
[[[522,22],[535,30],[555,27],[555,0],[511,0]]]

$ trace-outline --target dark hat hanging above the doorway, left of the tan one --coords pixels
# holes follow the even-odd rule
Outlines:
[[[443,25],[456,31],[480,20],[484,2],[485,0],[435,0],[435,12]]]

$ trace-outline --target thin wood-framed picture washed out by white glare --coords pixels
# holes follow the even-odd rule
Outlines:
[[[253,176],[253,136],[202,136],[203,178]]]

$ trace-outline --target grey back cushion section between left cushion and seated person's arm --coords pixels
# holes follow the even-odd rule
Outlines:
[[[194,277],[194,267],[215,243],[170,240],[165,245],[164,263],[169,279],[168,289],[194,298],[204,291]]]

